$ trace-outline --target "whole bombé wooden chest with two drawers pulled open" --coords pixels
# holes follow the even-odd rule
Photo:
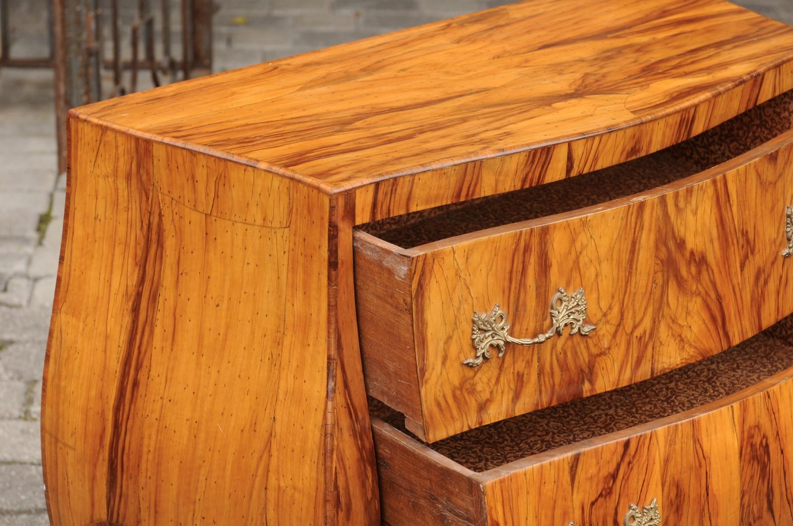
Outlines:
[[[793,524],[793,29],[530,0],[68,132],[53,524]]]

